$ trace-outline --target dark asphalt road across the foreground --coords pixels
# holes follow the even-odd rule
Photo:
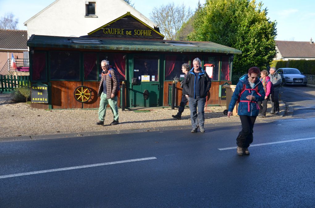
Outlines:
[[[0,207],[314,207],[314,124],[1,142]]]

